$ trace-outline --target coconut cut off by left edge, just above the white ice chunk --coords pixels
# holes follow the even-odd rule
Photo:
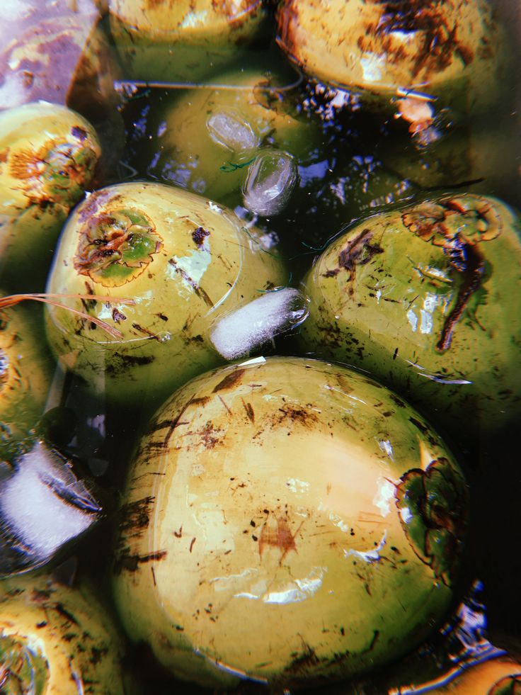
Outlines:
[[[30,307],[0,310],[0,463],[11,462],[43,414],[53,366],[40,324]]]

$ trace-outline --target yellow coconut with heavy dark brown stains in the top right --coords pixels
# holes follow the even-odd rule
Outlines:
[[[305,72],[367,103],[416,89],[474,111],[497,96],[505,36],[486,0],[284,0],[278,27]]]

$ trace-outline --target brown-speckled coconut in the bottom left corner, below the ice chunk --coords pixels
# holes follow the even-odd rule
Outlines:
[[[5,695],[122,695],[121,640],[85,589],[46,575],[0,583],[0,688]]]

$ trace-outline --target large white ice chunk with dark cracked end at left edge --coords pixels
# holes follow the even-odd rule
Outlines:
[[[0,575],[30,570],[98,519],[101,508],[67,462],[38,441],[0,487]]]

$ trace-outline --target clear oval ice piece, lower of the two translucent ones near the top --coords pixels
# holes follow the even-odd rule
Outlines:
[[[290,199],[297,183],[297,165],[287,152],[267,150],[248,171],[244,184],[244,207],[258,215],[277,215]]]

